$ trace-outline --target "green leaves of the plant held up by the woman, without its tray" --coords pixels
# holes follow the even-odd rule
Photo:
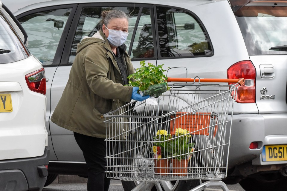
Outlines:
[[[139,87],[139,90],[148,90],[151,85],[161,84],[167,81],[167,77],[164,75],[166,70],[163,70],[164,64],[155,66],[152,63],[145,63],[140,61],[141,67],[136,69],[135,73],[128,76],[129,86]],[[167,90],[170,87],[167,86]]]

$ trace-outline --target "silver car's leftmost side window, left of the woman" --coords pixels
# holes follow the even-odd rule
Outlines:
[[[28,34],[28,49],[43,65],[53,63],[71,8],[48,10],[18,19]]]

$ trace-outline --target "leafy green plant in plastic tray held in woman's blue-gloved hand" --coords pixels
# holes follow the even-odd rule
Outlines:
[[[170,89],[167,85],[167,77],[164,75],[164,64],[155,66],[152,63],[140,61],[141,67],[136,69],[135,73],[128,76],[129,86],[139,87],[141,96],[158,97]]]

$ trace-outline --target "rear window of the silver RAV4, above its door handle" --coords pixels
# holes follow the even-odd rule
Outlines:
[[[249,55],[287,54],[287,7],[245,6],[235,16]]]

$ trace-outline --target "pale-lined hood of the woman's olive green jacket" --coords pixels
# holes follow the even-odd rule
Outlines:
[[[92,37],[85,36],[83,40],[77,44],[77,52],[80,52],[83,48],[93,43],[106,43],[106,36],[101,30],[98,30]]]

